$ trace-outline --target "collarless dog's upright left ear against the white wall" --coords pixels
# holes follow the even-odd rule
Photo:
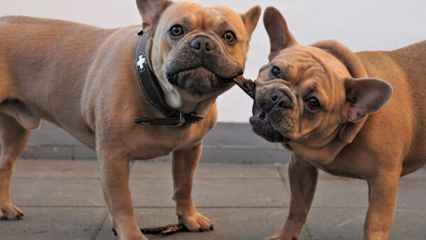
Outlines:
[[[297,41],[293,34],[288,31],[287,22],[283,15],[273,6],[268,6],[263,13],[263,25],[269,36],[271,43],[271,53],[269,53],[269,61],[278,55],[280,50],[297,45]]]

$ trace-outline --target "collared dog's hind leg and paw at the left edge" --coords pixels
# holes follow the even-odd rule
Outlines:
[[[0,113],[0,218],[18,220],[23,212],[11,202],[9,185],[15,160],[22,153],[31,131],[10,116]]]

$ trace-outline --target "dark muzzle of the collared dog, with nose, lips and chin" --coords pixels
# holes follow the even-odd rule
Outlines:
[[[165,63],[170,84],[193,94],[205,94],[227,87],[243,72],[238,62],[226,55],[212,36],[197,34],[178,45]]]

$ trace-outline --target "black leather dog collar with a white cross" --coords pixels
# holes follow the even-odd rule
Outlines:
[[[148,101],[165,114],[166,117],[137,117],[134,119],[135,124],[178,127],[184,124],[199,123],[202,119],[204,119],[204,116],[199,114],[184,114],[173,110],[165,103],[164,92],[161,89],[160,84],[158,84],[157,77],[155,77],[148,65],[148,58],[146,55],[148,36],[143,34],[143,31],[140,31],[138,35],[142,36],[141,40],[139,40],[138,48],[136,49],[135,60],[139,84],[141,84],[142,91],[145,93]]]

